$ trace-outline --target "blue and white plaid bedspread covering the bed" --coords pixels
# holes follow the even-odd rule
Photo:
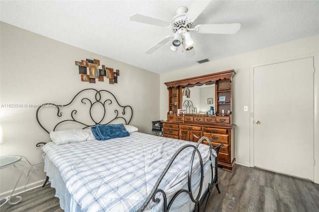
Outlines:
[[[134,132],[106,141],[49,142],[42,149],[45,158],[59,169],[82,211],[135,212],[150,195],[171,156],[185,144],[196,143]],[[209,146],[201,144],[199,150],[205,164]],[[192,151],[183,151],[166,173],[160,188],[167,196],[187,184]],[[199,169],[199,162],[193,167]],[[160,211],[160,207],[150,204],[147,210]]]

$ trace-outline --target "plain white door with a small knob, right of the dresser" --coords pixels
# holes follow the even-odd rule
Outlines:
[[[314,180],[313,61],[254,68],[254,166]]]

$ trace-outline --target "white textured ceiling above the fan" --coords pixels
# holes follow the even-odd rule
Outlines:
[[[241,23],[233,35],[192,32],[196,54],[185,57],[168,42],[144,52],[172,32],[130,21],[139,13],[170,22],[185,0],[1,0],[2,22],[155,73],[166,73],[319,34],[319,0],[212,0],[197,24]]]

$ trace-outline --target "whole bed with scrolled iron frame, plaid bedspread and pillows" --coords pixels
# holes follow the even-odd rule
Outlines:
[[[38,107],[36,119],[52,142],[36,145],[43,144],[46,180],[61,209],[205,210],[212,189],[219,192],[220,145],[213,147],[207,137],[194,143],[141,133],[130,125],[132,117],[133,108],[106,90],[85,89],[66,105]]]

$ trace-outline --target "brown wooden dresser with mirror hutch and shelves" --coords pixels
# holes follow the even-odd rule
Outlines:
[[[193,142],[206,136],[214,146],[224,144],[218,154],[218,165],[227,171],[233,170],[236,161],[235,125],[232,123],[232,79],[235,74],[234,70],[230,70],[165,83],[168,90],[168,113],[167,120],[162,121],[163,136]],[[184,113],[182,90],[207,84],[214,85],[211,96],[214,96],[215,113],[207,114],[208,111]],[[209,106],[207,104],[205,108]]]

